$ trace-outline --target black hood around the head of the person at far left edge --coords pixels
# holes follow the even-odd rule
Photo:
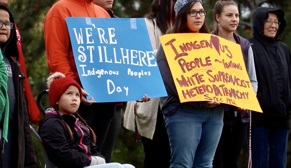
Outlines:
[[[11,23],[14,23],[14,18],[10,12],[10,10],[3,4],[0,4],[0,9],[4,9],[9,13],[9,20]],[[2,53],[7,55],[7,56],[12,56],[18,58],[18,49],[17,49],[17,43],[16,43],[17,37],[16,37],[16,30],[15,30],[15,25],[13,25],[13,29],[10,30],[10,37],[9,39],[1,44],[1,50]]]

